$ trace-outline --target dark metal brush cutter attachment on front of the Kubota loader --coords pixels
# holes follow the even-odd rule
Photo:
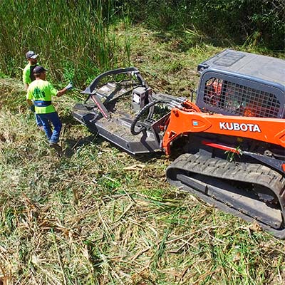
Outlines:
[[[160,152],[159,125],[170,106],[160,108],[157,114],[155,105],[161,102],[177,105],[181,101],[170,95],[154,94],[134,67],[100,74],[82,94],[87,95],[86,101],[74,106],[73,117],[91,132],[133,155]]]

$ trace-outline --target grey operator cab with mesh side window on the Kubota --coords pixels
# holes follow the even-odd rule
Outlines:
[[[285,118],[285,61],[225,50],[200,63],[197,105],[205,112]]]

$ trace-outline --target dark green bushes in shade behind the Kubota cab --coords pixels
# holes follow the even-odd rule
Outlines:
[[[284,49],[285,4],[282,0],[129,0],[135,21],[161,30],[197,30],[209,41]],[[258,36],[257,36],[258,35]]]

